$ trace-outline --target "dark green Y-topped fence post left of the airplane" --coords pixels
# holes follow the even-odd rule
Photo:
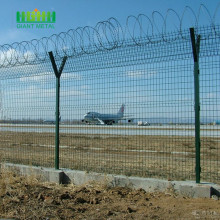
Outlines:
[[[54,74],[56,76],[56,128],[55,128],[55,169],[59,169],[59,133],[60,133],[60,77],[64,68],[64,65],[67,60],[67,56],[65,56],[62,60],[62,63],[60,65],[59,71],[57,69],[57,65],[55,63],[55,59],[53,56],[53,52],[49,52],[50,61],[52,63],[52,67],[54,70]]]

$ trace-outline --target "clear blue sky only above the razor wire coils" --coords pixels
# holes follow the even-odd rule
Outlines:
[[[152,16],[153,11],[165,15],[169,8],[182,15],[185,6],[197,13],[200,4],[206,5],[213,15],[218,0],[1,0],[0,7],[0,45],[13,42],[40,39],[52,34],[66,32],[77,27],[95,26],[97,22],[114,17],[122,24],[129,15],[145,14]],[[17,11],[55,11],[54,29],[18,29]],[[205,21],[204,21],[205,22]]]

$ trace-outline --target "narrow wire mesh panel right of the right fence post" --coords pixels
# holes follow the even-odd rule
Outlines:
[[[218,51],[219,41],[207,40],[201,48]],[[204,181],[220,182],[220,59],[219,54],[200,59],[201,175]]]

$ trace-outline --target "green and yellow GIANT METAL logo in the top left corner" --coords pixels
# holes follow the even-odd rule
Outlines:
[[[40,12],[38,9],[30,12],[16,13],[17,28],[54,28],[56,12]]]

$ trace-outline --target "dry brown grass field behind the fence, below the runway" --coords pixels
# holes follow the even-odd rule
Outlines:
[[[54,167],[54,134],[0,132],[2,161]],[[195,180],[195,139],[190,136],[61,134],[60,167]],[[220,183],[220,138],[201,138],[202,181]]]

